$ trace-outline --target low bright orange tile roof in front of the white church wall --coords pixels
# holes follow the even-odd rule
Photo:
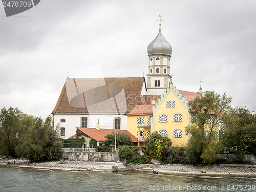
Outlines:
[[[97,141],[104,141],[106,138],[105,136],[108,134],[112,134],[113,132],[115,133],[115,130],[110,130],[110,129],[100,129],[96,130],[95,128],[78,128],[77,127],[77,132],[81,132],[83,134],[86,134],[87,136],[97,140]],[[131,136],[133,142],[137,142],[137,137],[135,137],[133,134],[131,134],[127,130],[117,130],[117,133],[127,133],[128,135]],[[77,133],[79,135],[79,133]]]

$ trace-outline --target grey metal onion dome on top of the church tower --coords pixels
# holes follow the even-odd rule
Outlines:
[[[170,44],[163,37],[161,33],[161,27],[159,27],[159,32],[156,38],[147,46],[148,55],[153,54],[164,54],[164,55],[172,55],[173,49],[170,47]]]

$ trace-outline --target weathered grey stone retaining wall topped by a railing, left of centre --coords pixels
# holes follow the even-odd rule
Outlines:
[[[119,161],[119,148],[112,149],[112,153],[105,152],[66,152],[63,157],[69,161],[115,162]]]

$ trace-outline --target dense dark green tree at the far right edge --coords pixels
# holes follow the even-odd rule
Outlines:
[[[223,116],[223,141],[228,151],[239,159],[245,154],[256,155],[256,116],[236,107]]]

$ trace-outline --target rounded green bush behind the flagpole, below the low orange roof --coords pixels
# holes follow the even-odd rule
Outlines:
[[[132,145],[133,140],[130,135],[124,132],[117,131],[117,134],[115,131],[112,132],[112,134],[108,134],[105,136],[105,145],[113,145],[115,146],[115,137],[116,137],[116,146],[119,145]]]

